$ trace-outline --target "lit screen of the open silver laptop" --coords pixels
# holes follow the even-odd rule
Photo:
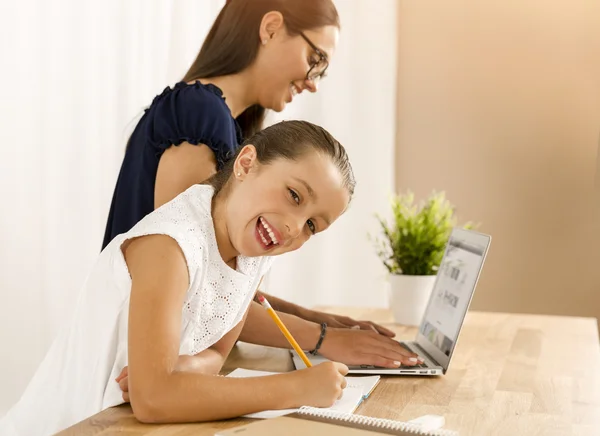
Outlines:
[[[449,238],[419,332],[441,351],[437,356],[449,358],[454,349],[488,245],[487,235],[463,229],[455,229]]]

